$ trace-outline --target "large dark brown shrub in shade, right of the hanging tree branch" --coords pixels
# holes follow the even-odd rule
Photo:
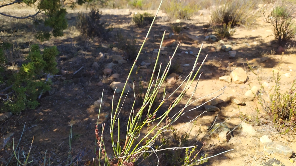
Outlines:
[[[111,28],[106,22],[101,22],[102,13],[99,10],[92,9],[88,15],[79,14],[76,23],[77,29],[84,36],[89,38],[99,37],[107,40]]]

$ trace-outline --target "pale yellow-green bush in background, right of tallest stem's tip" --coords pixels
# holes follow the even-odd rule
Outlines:
[[[170,0],[165,7],[165,13],[170,18],[190,19],[199,9],[200,6],[195,1]]]

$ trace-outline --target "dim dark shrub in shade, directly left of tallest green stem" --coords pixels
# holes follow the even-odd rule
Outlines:
[[[129,60],[134,60],[139,52],[139,45],[136,38],[133,36],[125,37],[122,33],[118,32],[116,37],[116,46],[123,50]]]

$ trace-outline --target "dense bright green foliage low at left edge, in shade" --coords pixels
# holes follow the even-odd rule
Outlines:
[[[26,58],[27,64],[23,64],[19,71],[7,77],[8,85],[12,85],[6,94],[1,95],[0,111],[19,113],[26,108],[34,109],[39,103],[38,96],[50,90],[50,74],[58,72],[55,57],[59,54],[57,48],[44,48],[41,52],[38,45],[32,45]]]

